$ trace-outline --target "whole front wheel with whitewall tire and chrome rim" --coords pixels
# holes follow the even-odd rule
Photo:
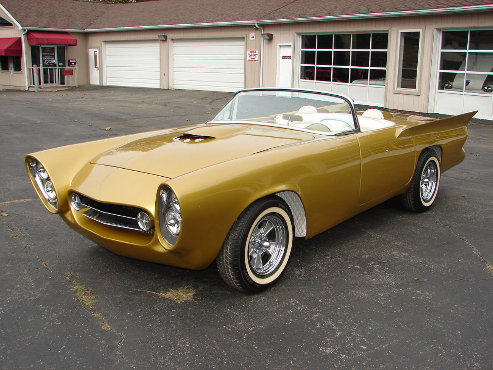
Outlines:
[[[287,205],[276,197],[257,200],[238,217],[216,258],[222,279],[253,293],[272,286],[284,272],[293,244]]]

